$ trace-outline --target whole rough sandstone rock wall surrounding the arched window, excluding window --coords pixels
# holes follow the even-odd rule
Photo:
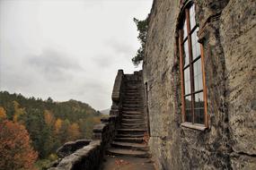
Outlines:
[[[162,169],[255,169],[256,3],[194,2],[209,126],[181,127],[177,25],[185,3],[154,0],[143,64],[153,156]]]

